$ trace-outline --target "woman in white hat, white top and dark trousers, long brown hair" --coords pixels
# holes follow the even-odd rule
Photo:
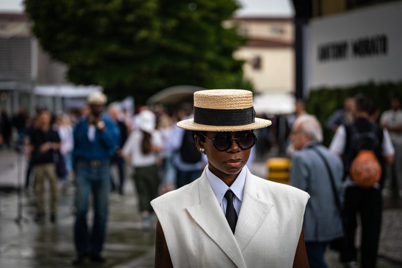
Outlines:
[[[133,131],[123,147],[123,155],[134,167],[134,183],[137,188],[142,227],[149,228],[150,201],[158,196],[158,152],[163,149],[160,133],[155,129],[155,114],[144,110],[139,115],[139,129]]]

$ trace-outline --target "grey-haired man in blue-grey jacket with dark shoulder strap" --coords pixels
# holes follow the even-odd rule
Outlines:
[[[327,267],[325,248],[331,240],[343,234],[337,205],[341,202],[343,165],[338,156],[321,145],[323,131],[313,115],[300,115],[293,124],[290,138],[297,150],[292,156],[290,183],[310,195],[303,222],[310,267]]]

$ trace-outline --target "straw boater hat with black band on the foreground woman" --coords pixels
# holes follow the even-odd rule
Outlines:
[[[213,89],[194,92],[194,118],[182,120],[177,126],[200,131],[241,131],[271,123],[255,117],[251,91]]]

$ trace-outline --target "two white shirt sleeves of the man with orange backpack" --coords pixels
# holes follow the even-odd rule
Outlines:
[[[395,150],[389,138],[388,130],[382,129],[384,132],[384,138],[382,139],[382,156],[393,156]],[[345,153],[346,146],[346,129],[344,125],[340,125],[335,132],[334,138],[331,141],[330,151],[339,156]]]

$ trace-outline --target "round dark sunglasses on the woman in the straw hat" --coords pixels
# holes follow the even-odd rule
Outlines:
[[[242,150],[247,150],[253,147],[257,141],[257,137],[251,131],[240,131],[237,133],[237,138],[235,139],[232,139],[230,132],[219,132],[212,140],[203,135],[203,133],[199,133],[208,139],[218,151],[228,150],[232,146],[233,141],[236,141]]]

